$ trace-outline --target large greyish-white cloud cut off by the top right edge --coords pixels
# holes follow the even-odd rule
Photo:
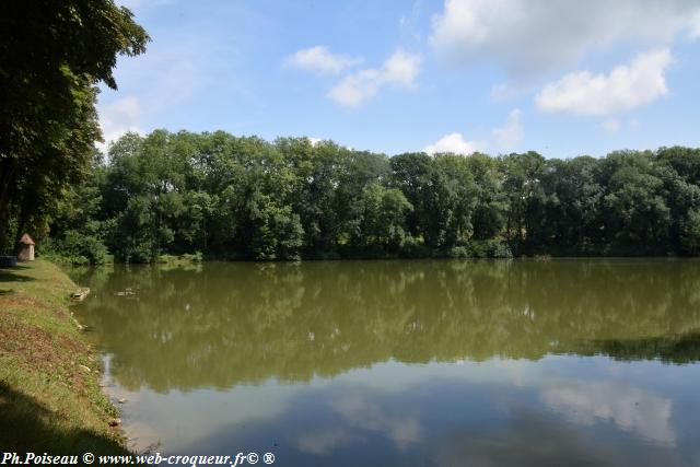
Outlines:
[[[430,40],[453,65],[491,61],[535,74],[617,43],[667,46],[681,33],[700,35],[700,2],[445,0]]]

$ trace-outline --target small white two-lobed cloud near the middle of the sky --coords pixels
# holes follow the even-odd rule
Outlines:
[[[410,87],[420,71],[420,56],[397,50],[382,68],[360,70],[343,78],[328,91],[328,97],[340,105],[357,107],[385,85]]]

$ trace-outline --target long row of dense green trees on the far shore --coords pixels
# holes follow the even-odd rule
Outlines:
[[[700,254],[700,150],[546,160],[406,153],[223,131],[127,135],[93,161],[54,245],[116,260]],[[78,236],[82,235],[82,237]],[[92,246],[90,249],[93,249]],[[96,248],[100,250],[100,248]]]

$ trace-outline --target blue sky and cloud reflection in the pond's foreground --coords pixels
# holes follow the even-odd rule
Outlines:
[[[557,364],[544,362],[550,370]],[[494,370],[488,362],[467,363],[463,375],[445,365],[438,378],[429,366],[387,363],[368,370],[378,378],[383,371],[419,373],[400,392],[363,384],[353,371],[330,386],[312,383],[275,417],[217,424],[177,451],[217,452],[235,440],[273,450],[292,466],[680,466],[695,465],[688,456],[699,454],[697,420],[678,413],[674,419],[669,399],[648,389],[602,384],[593,397],[614,400],[599,399],[607,409],[597,409],[580,401],[591,387],[572,375],[562,384],[529,376],[517,387],[498,376],[471,381],[471,371]],[[682,431],[680,441],[676,430]]]

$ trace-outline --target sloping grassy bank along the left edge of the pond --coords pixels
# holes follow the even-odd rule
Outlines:
[[[100,365],[68,305],[78,287],[38,259],[0,268],[0,446],[125,453]]]

